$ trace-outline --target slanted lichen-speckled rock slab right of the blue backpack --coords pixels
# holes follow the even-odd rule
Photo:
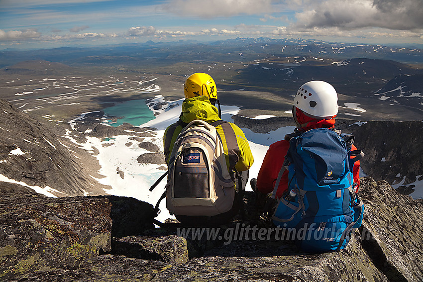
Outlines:
[[[391,281],[423,281],[423,205],[386,181],[361,178],[363,248]]]

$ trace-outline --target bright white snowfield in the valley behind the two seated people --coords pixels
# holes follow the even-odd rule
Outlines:
[[[175,101],[165,101],[161,95],[149,101],[150,109],[156,114],[155,119],[150,120],[139,127],[153,127],[156,130],[152,131],[153,137],[144,138],[143,142],[150,142],[157,145],[161,152],[163,150],[163,134],[165,129],[172,123],[179,119],[181,112],[181,106],[184,99]],[[153,106],[157,103],[166,102],[161,109],[153,109]],[[354,109],[359,112],[365,111],[358,107],[356,103],[346,103],[348,108]],[[238,106],[221,106],[222,119],[226,121],[232,121],[231,116],[236,115],[239,111]],[[82,114],[84,116],[86,113]],[[257,119],[269,118],[271,116],[257,116]],[[73,125],[75,120],[70,123]],[[254,156],[254,164],[249,171],[249,179],[257,178],[261,164],[263,163],[264,156],[269,146],[279,140],[282,140],[288,133],[293,132],[294,126],[287,126],[279,128],[269,133],[255,133],[248,128],[242,128],[249,141],[249,145]],[[143,200],[156,205],[157,200],[160,198],[165,190],[166,180],[163,180],[153,191],[149,191],[151,185],[163,175],[166,170],[166,164],[140,164],[137,161],[138,156],[151,153],[146,149],[142,149],[138,146],[139,142],[130,139],[133,137],[130,131],[127,131],[128,135],[114,136],[113,138],[100,139],[95,137],[88,137],[85,143],[79,144],[79,146],[85,148],[89,152],[93,152],[95,149],[98,150],[99,154],[96,158],[101,165],[99,174],[103,175],[104,178],[94,178],[98,182],[104,185],[108,185],[111,189],[106,189],[106,193],[117,195],[117,196],[128,196],[134,197],[139,200]],[[69,133],[69,132],[68,132]],[[69,134],[67,134],[68,138]],[[73,142],[76,142],[73,140]],[[362,176],[365,173],[361,171]],[[423,182],[420,182],[423,183]],[[398,185],[399,186],[399,185]],[[423,197],[422,184],[416,185],[416,192],[412,194],[413,197]],[[396,186],[397,187],[397,186]],[[249,183],[246,186],[246,190],[251,190]],[[164,221],[172,216],[166,209],[165,200],[160,203],[160,214],[157,217],[159,221]]]

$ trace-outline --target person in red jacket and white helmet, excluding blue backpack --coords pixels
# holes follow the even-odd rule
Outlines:
[[[313,96],[313,99],[304,99]],[[287,134],[284,140],[277,141],[270,145],[263,159],[263,164],[258,173],[257,179],[251,180],[251,187],[257,194],[258,203],[264,206],[267,199],[272,194],[273,189],[288,152],[289,140],[293,136],[298,136],[314,128],[334,128],[335,117],[338,113],[338,96],[335,89],[327,82],[311,81],[300,87],[293,105],[293,118],[296,123],[294,133]],[[351,150],[356,150],[354,144]],[[356,191],[360,185],[360,161],[354,163],[352,174],[354,182],[357,184]],[[288,170],[286,170],[279,183],[276,197],[281,196],[288,189]],[[268,211],[271,212],[271,211]]]

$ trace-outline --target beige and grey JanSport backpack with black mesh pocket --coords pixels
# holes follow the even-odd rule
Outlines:
[[[166,185],[166,207],[175,215],[214,216],[232,208],[235,183],[214,126],[193,120],[175,141]]]

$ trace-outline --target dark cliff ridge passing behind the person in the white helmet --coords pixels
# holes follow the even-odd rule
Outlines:
[[[234,122],[257,133],[267,133],[282,126],[295,126],[290,117],[256,120],[234,116]],[[376,180],[404,185],[423,179],[422,121],[355,121],[336,119],[336,129],[353,133],[354,144],[363,150],[363,171]],[[281,140],[284,136],[280,137]],[[418,177],[420,177],[418,179]]]

